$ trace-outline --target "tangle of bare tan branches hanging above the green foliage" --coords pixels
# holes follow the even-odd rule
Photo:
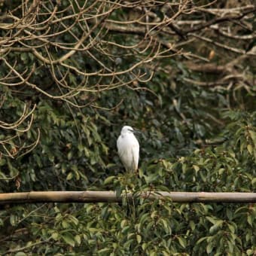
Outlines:
[[[216,75],[214,81],[209,76],[206,81],[181,77],[183,82],[227,90],[243,87],[249,92],[254,90],[253,72],[239,64],[256,56],[256,8],[244,3],[218,7],[214,0],[206,5],[191,0],[20,2],[0,20],[0,84],[11,94],[32,92],[37,99],[107,109],[97,105],[99,93],[120,87],[149,90],[143,85],[161,69],[156,63],[182,56],[190,71]],[[0,108],[8,108],[4,93]],[[33,126],[33,112],[34,108],[11,123],[0,120],[4,157],[20,155],[25,133]]]

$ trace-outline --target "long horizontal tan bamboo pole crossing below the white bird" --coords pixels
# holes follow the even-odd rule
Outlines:
[[[163,192],[124,193],[114,191],[31,191],[0,194],[0,205],[20,203],[118,203],[122,197],[149,200],[168,198],[174,203],[256,203],[256,193],[244,192]]]

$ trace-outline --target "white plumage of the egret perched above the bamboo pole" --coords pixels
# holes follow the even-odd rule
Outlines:
[[[131,126],[123,126],[117,139],[117,151],[126,171],[135,172],[139,163],[139,142]]]

